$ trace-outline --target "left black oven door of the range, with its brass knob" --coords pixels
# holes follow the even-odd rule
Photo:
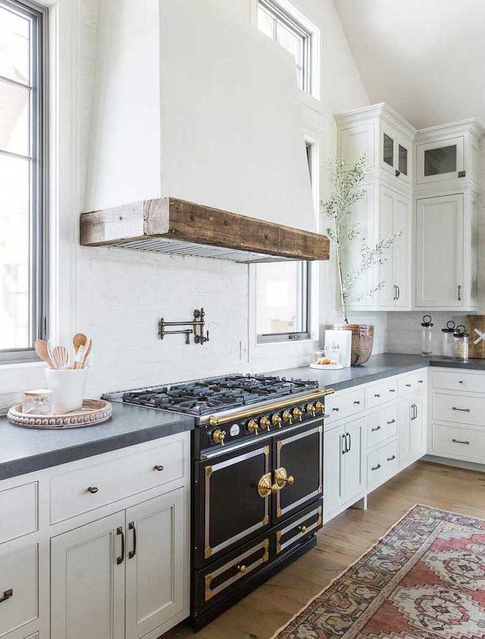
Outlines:
[[[194,564],[202,567],[270,525],[270,442],[195,462]]]

